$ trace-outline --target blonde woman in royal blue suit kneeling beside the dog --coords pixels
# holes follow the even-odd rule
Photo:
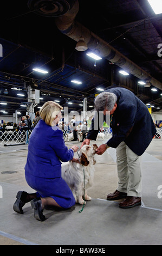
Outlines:
[[[28,194],[18,191],[14,211],[23,214],[22,207],[31,202],[34,217],[44,221],[44,206],[53,205],[67,209],[75,204],[72,191],[61,178],[61,161],[74,159],[78,147],[73,145],[68,150],[64,143],[63,133],[58,126],[62,107],[54,101],[44,103],[38,121],[30,136],[27,163],[25,164],[25,179],[36,193]]]

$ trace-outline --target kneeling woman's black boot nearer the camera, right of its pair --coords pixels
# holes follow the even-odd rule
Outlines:
[[[34,217],[38,221],[45,221],[46,217],[43,215],[42,201],[41,198],[35,198],[31,200],[31,206],[34,209]]]

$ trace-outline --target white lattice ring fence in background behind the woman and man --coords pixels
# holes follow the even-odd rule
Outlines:
[[[22,131],[16,131],[16,130],[5,130],[0,129],[0,144],[4,145],[15,145],[15,144],[28,144],[31,132],[33,130],[22,130]],[[73,136],[71,139],[67,139],[67,134],[73,133],[73,131],[63,131],[63,138],[65,141],[71,141],[73,139]],[[82,137],[80,138],[79,132],[77,133],[77,140],[82,141]],[[103,139],[109,139],[112,137],[112,129],[111,128],[105,128],[104,130],[99,132],[99,135],[97,137],[97,140],[103,140]],[[162,128],[157,128],[157,133],[154,136],[155,139],[162,138]]]

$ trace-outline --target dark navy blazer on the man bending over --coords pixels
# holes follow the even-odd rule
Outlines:
[[[113,136],[107,145],[116,148],[124,141],[135,154],[142,155],[156,133],[147,106],[125,88],[116,87],[105,92],[114,93],[117,96],[117,107],[111,125]],[[92,120],[92,130],[87,135],[88,139],[96,139],[99,127],[98,130],[93,129],[94,119]]]

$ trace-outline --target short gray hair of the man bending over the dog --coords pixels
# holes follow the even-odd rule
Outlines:
[[[114,93],[103,92],[96,96],[94,100],[94,107],[97,112],[103,111],[107,108],[111,111],[117,101],[117,96]]]

